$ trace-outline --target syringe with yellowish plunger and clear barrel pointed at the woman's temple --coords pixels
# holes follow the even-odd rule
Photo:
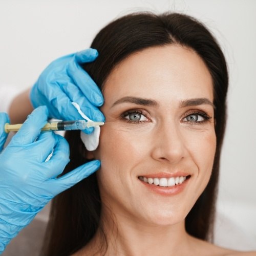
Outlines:
[[[49,122],[44,127],[42,127],[41,131],[73,131],[73,130],[84,130],[86,127],[94,127],[103,125],[103,122],[94,122],[85,120],[72,120],[72,121],[56,121]],[[18,124],[5,124],[5,132],[17,132],[20,127],[22,127],[23,123]]]

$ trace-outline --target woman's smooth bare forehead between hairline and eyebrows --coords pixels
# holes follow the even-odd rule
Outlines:
[[[191,49],[167,45],[147,48],[121,61],[104,84],[106,102],[125,96],[157,101],[206,97],[213,101],[211,75]]]

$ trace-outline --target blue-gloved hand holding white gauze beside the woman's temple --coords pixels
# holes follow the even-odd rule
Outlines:
[[[74,101],[91,120],[103,122],[104,116],[97,108],[103,104],[103,96],[96,83],[79,65],[92,62],[97,56],[97,50],[90,48],[53,61],[31,90],[33,107],[46,105],[51,118],[79,120],[81,116],[71,104]],[[84,130],[87,134],[92,131],[93,127]]]

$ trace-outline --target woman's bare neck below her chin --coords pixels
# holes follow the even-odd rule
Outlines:
[[[102,219],[108,248],[105,255],[185,255],[189,251],[191,237],[185,231],[185,221],[173,225],[148,224],[131,216],[109,214]],[[89,247],[102,244],[100,231]],[[93,249],[95,251],[95,249]],[[99,253],[101,255],[101,253]]]

